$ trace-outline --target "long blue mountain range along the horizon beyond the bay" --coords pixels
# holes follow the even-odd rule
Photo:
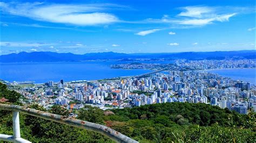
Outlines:
[[[256,51],[216,51],[216,52],[181,52],[181,53],[87,53],[83,55],[72,53],[55,52],[21,52],[8,55],[0,55],[0,62],[59,62],[59,61],[83,61],[83,60],[131,60],[131,59],[187,59],[203,60],[215,59],[223,60],[225,58],[236,59],[256,59]]]

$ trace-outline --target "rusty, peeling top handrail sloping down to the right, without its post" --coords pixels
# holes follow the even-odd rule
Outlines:
[[[100,134],[106,135],[107,137],[109,137],[112,140],[117,141],[117,142],[138,142],[138,141],[133,140],[133,139],[125,136],[124,134],[114,131],[113,129],[111,129],[107,126],[104,126],[104,125],[95,124],[95,123],[91,123],[89,121],[79,120],[79,119],[75,119],[75,118],[60,116],[60,115],[56,115],[56,114],[49,113],[49,112],[30,109],[25,106],[11,105],[11,104],[0,104],[0,110],[22,112],[27,115],[43,118],[46,120],[55,121],[57,123],[66,124],[66,125],[98,132]]]

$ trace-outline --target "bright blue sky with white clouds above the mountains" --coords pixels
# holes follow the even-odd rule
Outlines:
[[[2,1],[1,53],[255,49],[254,1]]]

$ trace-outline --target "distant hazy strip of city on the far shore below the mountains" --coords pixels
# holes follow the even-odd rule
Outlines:
[[[122,69],[172,69],[172,70],[207,70],[226,68],[255,68],[256,60],[176,60],[173,63],[124,63],[111,65],[111,68]]]

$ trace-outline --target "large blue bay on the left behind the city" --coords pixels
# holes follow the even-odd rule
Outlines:
[[[0,63],[0,79],[5,81],[77,81],[132,76],[149,73],[146,69],[111,69],[110,65],[129,63],[125,61]],[[144,62],[145,63],[145,62]],[[156,61],[153,63],[168,63]]]

